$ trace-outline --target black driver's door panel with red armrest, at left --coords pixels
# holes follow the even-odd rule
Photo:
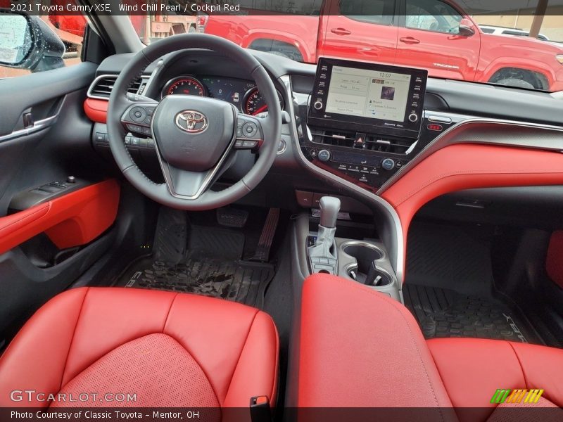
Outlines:
[[[0,347],[113,243],[116,170],[92,148],[83,109],[96,67],[85,62],[0,80]],[[29,130],[24,113],[48,124]],[[70,175],[87,187],[11,209],[23,192]]]

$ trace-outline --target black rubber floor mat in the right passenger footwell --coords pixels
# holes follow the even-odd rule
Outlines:
[[[405,283],[405,306],[425,338],[472,337],[543,344],[516,312],[495,300]]]

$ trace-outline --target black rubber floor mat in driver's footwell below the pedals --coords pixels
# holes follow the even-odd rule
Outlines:
[[[270,264],[191,254],[179,264],[150,258],[134,262],[118,286],[196,293],[262,307],[273,277]]]

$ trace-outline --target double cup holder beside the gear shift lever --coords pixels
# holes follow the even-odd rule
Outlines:
[[[358,283],[368,286],[384,287],[393,283],[393,277],[384,269],[374,265],[375,260],[384,257],[383,252],[369,243],[349,243],[343,245],[343,252],[355,257],[358,265],[350,265],[346,273]]]

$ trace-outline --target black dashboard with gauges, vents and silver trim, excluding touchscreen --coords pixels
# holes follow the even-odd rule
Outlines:
[[[320,124],[322,120],[312,118],[311,113],[319,100],[316,65],[296,63],[268,53],[253,54],[270,73],[281,109],[287,116],[279,140],[279,155],[274,162],[276,172],[294,175],[297,162],[302,170],[304,166],[321,179],[328,177],[347,188],[353,186],[362,194],[381,196],[430,153],[460,140],[524,148],[560,147],[559,143],[553,145],[553,139],[559,140],[561,136],[562,103],[546,93],[429,78],[426,92],[423,89],[409,98],[407,104],[405,123],[409,124],[408,119],[416,112],[416,124],[412,126],[415,130],[389,130],[388,125],[370,125],[369,121],[367,125],[341,121],[327,126]],[[130,58],[127,54],[111,56],[102,63],[99,76],[89,89],[89,99],[103,98],[97,95],[96,84],[108,75],[115,80],[119,69]],[[176,94],[208,96],[232,103],[239,113],[258,117],[267,113],[251,75],[229,58],[211,51],[179,51],[167,55],[150,65],[140,81],[133,87],[136,93],[156,100]],[[381,98],[392,92],[382,91]],[[103,99],[107,101],[108,96],[109,93]],[[537,96],[543,101],[530,107]],[[94,148],[109,155],[106,133],[103,121],[97,122]],[[129,134],[125,143],[141,165],[143,161],[148,165],[149,172],[151,165],[158,168],[153,157],[153,141],[148,136],[144,139]],[[298,185],[310,185],[310,178]],[[308,196],[305,200],[298,196],[297,200],[300,205],[314,205]]]

